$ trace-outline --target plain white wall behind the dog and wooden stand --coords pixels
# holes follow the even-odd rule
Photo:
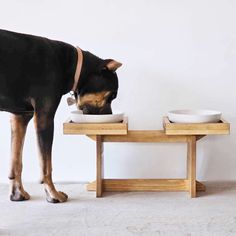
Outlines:
[[[42,35],[114,58],[120,90],[113,107],[129,117],[130,129],[161,129],[170,109],[221,110],[230,136],[198,144],[199,179],[236,179],[236,2],[233,0],[8,0],[1,1],[0,28]],[[55,119],[54,179],[95,177],[95,144],[63,136],[70,108],[63,97]],[[24,179],[38,180],[33,122],[24,149]],[[7,182],[10,126],[0,114],[0,182]],[[106,177],[184,177],[183,144],[107,144]]]

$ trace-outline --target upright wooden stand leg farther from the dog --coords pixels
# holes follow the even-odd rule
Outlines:
[[[189,180],[189,193],[192,198],[196,197],[196,136],[188,138],[187,179]]]

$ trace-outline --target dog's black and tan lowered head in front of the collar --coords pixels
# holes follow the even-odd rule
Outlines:
[[[76,99],[83,114],[112,114],[111,103],[118,90],[116,70],[121,65],[112,59],[102,60],[91,53],[84,53],[83,78]]]

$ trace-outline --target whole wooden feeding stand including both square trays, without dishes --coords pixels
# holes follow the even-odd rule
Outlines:
[[[123,192],[123,191],[186,191],[190,197],[196,197],[197,191],[205,191],[205,186],[196,180],[196,143],[206,134],[228,134],[229,124],[221,121],[209,126],[200,124],[200,131],[196,130],[199,124],[187,124],[182,126],[182,131],[176,129],[179,124],[173,124],[164,117],[163,130],[151,131],[128,131],[128,121],[120,123],[119,134],[102,124],[73,124],[64,123],[64,134],[85,134],[96,141],[96,181],[87,185],[88,191],[96,191],[96,197],[101,197],[103,192]],[[84,125],[84,126],[83,126]],[[117,124],[116,124],[117,125]],[[182,125],[182,124],[181,124]],[[73,130],[72,127],[73,126]],[[84,129],[87,127],[88,130]],[[78,128],[80,127],[80,128]],[[81,128],[82,127],[82,128]],[[97,127],[95,129],[94,127]],[[104,128],[105,127],[105,128]],[[209,127],[211,131],[209,131]],[[105,129],[105,132],[104,132]],[[82,131],[81,131],[82,130]],[[196,134],[194,134],[194,132]],[[170,134],[166,134],[166,133]],[[176,134],[177,133],[177,134]],[[142,142],[142,143],[186,143],[187,144],[187,174],[185,179],[104,179],[104,143],[106,142]]]

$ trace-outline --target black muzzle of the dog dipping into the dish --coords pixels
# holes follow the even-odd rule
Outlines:
[[[111,104],[105,104],[103,107],[96,107],[89,104],[79,107],[84,115],[107,115],[112,114]]]

